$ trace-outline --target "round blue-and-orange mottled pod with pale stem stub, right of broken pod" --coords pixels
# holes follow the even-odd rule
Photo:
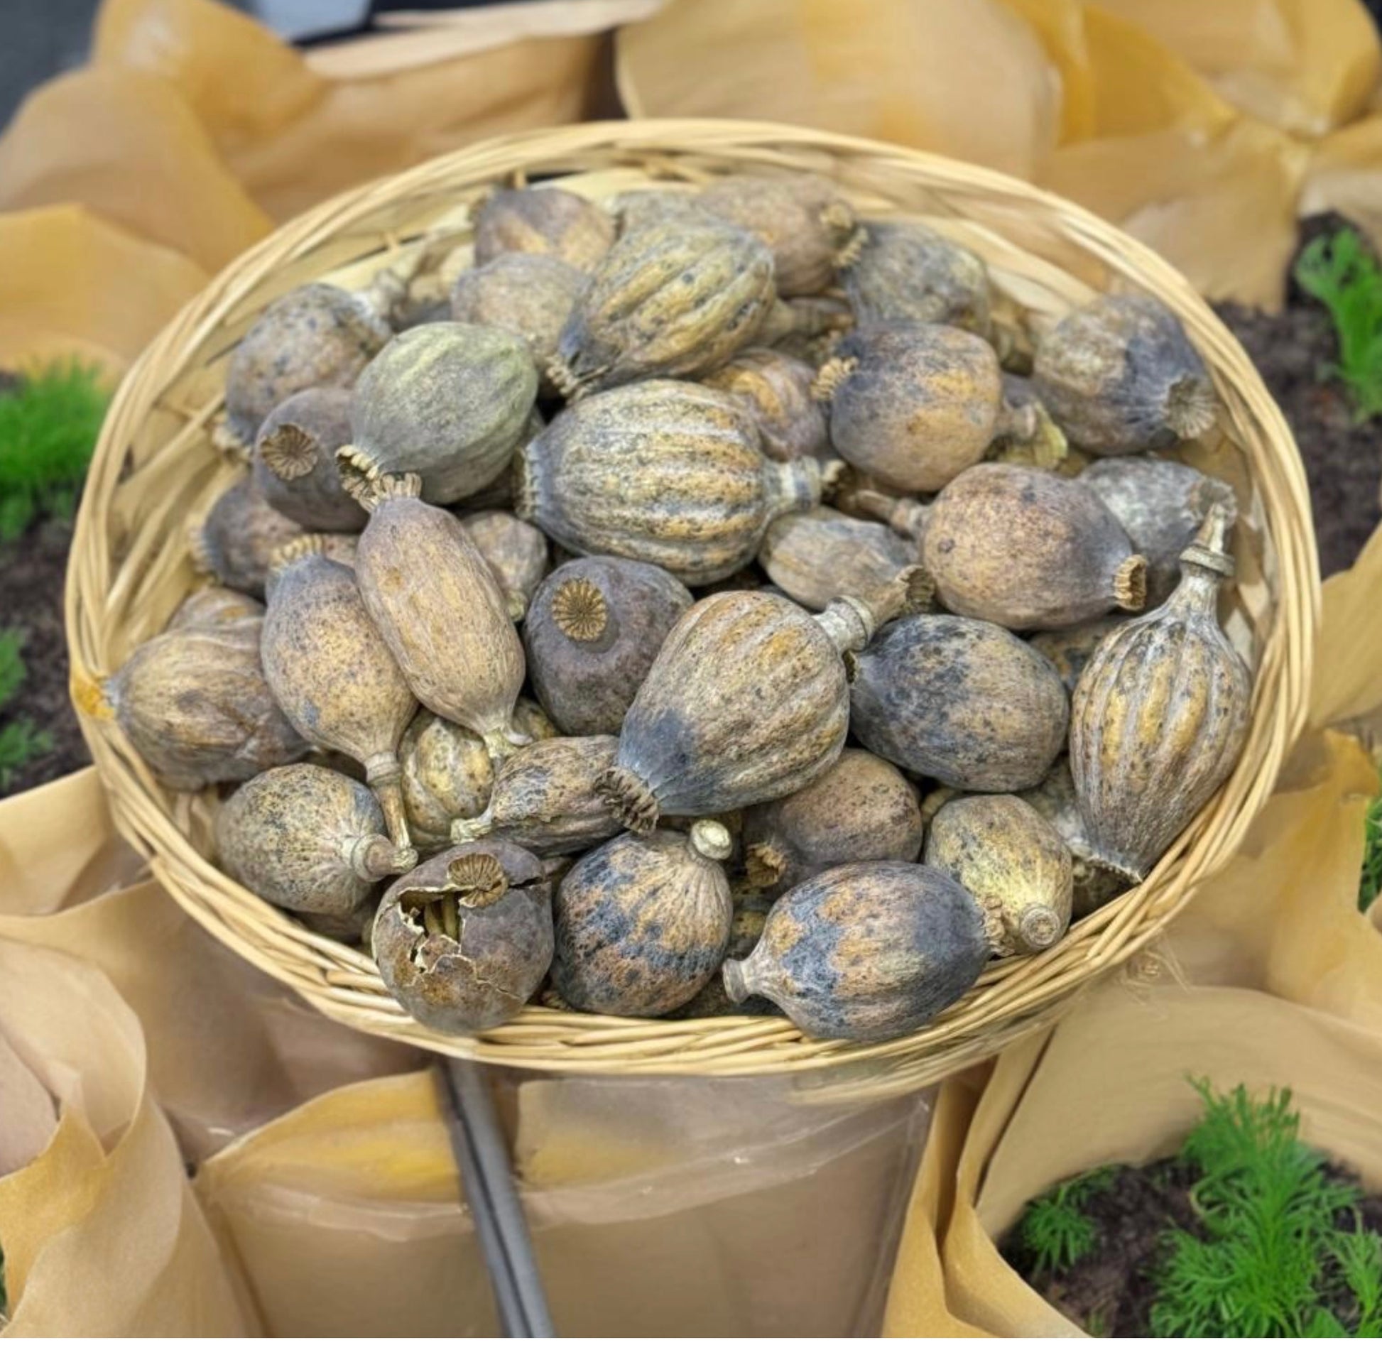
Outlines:
[[[557,994],[589,1013],[632,1017],[685,1004],[730,941],[728,854],[730,834],[702,820],[687,835],[615,836],[579,858],[553,901]]]

